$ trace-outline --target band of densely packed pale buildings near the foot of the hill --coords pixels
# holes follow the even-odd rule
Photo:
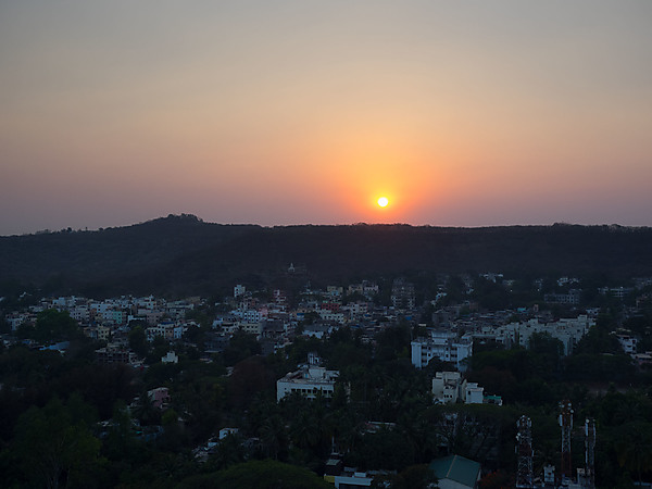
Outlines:
[[[505,280],[502,274],[488,273],[481,277],[510,286],[510,280]],[[466,292],[473,291],[473,279],[462,278]],[[648,281],[650,280],[641,284]],[[557,286],[562,288],[578,285],[577,278],[562,277],[557,280]],[[443,285],[440,289],[438,298],[446,297]],[[619,287],[601,289],[600,292],[620,297],[630,290]],[[397,278],[391,287],[390,301],[386,302],[391,305],[378,304],[379,301],[375,300],[378,293],[378,285],[367,280],[347,287],[328,286],[325,289],[313,289],[308,285],[299,297],[291,300],[286,291],[280,289],[262,293],[249,291],[243,285],[236,285],[233,297],[215,304],[222,312],[214,317],[213,331],[208,335],[205,351],[223,351],[236,331],[254,335],[263,346],[263,353],[271,353],[290,343],[297,334],[322,339],[341,326],[351,326],[361,330],[363,341],[373,342],[377,333],[399,319],[413,325],[417,323],[415,318],[423,309],[416,306],[413,284]],[[547,294],[546,300],[576,304],[580,297],[579,289],[570,288],[567,292]],[[195,325],[186,318],[188,312],[205,305],[205,301],[200,298],[165,301],[153,296],[124,296],[96,301],[72,296],[42,299],[39,304],[30,306],[27,311],[7,315],[5,321],[15,330],[22,324],[34,322],[40,311],[67,311],[87,336],[108,342],[106,347],[98,350],[101,362],[136,364],[138,359],[128,350],[127,342],[127,334],[134,322],[143,326],[149,341],[153,341],[155,337],[179,341],[184,333]],[[437,299],[431,305],[438,308]],[[462,315],[462,308],[466,308],[471,314]],[[474,304],[467,301],[438,308],[430,318],[426,318],[431,319],[428,322],[434,327],[411,342],[412,364],[423,368],[432,359],[437,359],[451,364],[459,372],[464,372],[467,359],[473,354],[474,342],[493,341],[505,348],[528,348],[535,334],[548,335],[560,340],[563,354],[568,355],[594,325],[597,312],[588,311],[588,314],[574,318],[553,319],[546,313],[539,313],[537,306],[531,310],[480,313],[474,312]],[[519,321],[514,321],[515,316],[519,317]],[[652,362],[650,352],[637,351],[636,337],[627,331],[619,331],[617,338],[624,351],[639,364]]]

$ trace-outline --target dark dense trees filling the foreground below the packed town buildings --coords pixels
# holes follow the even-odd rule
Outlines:
[[[253,354],[225,352],[205,363],[181,353],[179,364],[156,362],[143,373],[96,364],[88,340],[65,359],[24,347],[3,350],[0,468],[8,487],[251,487],[256,476],[283,480],[284,487],[319,487],[314,473],[323,473],[333,450],[343,454],[344,465],[394,471],[384,476],[392,487],[408,487],[415,474],[426,480],[418,467],[456,453],[492,471],[484,487],[499,487],[491,484],[514,474],[522,414],[532,419],[536,468],[559,463],[561,399],[572,400],[578,425],[584,417],[597,421],[600,487],[652,476],[649,375],[632,371],[627,390],[618,388],[624,386],[618,378],[589,390],[577,381],[576,359],[561,356],[550,337],[534,337],[531,351],[474,355],[469,378],[502,396],[503,406],[434,405],[430,379],[446,366],[411,365],[409,325],[387,328],[375,346],[341,328],[325,341],[298,338],[266,358],[251,351],[251,338],[237,341]],[[594,339],[578,347],[582,354],[598,355]],[[309,351],[340,371],[335,396],[313,401],[288,396],[277,403],[275,379]],[[230,376],[227,364],[234,367]],[[602,374],[589,380],[598,383]],[[164,412],[148,402],[147,390],[160,386],[172,396]],[[193,449],[228,426],[240,429],[200,462]],[[573,442],[575,465],[581,466],[579,430]]]

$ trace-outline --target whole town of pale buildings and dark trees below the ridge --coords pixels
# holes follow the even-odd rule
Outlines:
[[[652,278],[286,274],[300,286],[211,300],[2,298],[7,480],[197,487],[275,463],[305,471],[296,487],[652,480]],[[57,468],[22,479],[18,457],[40,466],[68,430]]]

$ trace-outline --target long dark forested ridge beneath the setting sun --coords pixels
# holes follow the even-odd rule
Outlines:
[[[220,225],[183,214],[96,231],[0,238],[4,289],[42,292],[213,294],[234,281],[392,276],[411,271],[652,275],[652,228],[622,226]],[[2,292],[2,290],[0,290]]]

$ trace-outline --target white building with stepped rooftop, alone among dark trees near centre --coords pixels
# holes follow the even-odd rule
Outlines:
[[[339,372],[327,371],[318,363],[315,355],[309,355],[308,365],[302,365],[298,371],[276,380],[276,401],[280,401],[290,392],[299,392],[308,399],[315,399],[317,392],[322,392],[325,398],[333,397]]]

